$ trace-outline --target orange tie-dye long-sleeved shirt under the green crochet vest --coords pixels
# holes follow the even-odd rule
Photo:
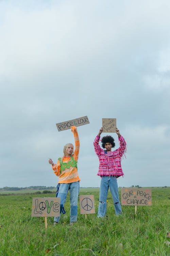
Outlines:
[[[74,134],[75,141],[73,158],[75,161],[78,161],[80,148],[79,134],[75,126],[72,126],[71,129]],[[68,163],[70,161],[70,157],[63,157],[62,160],[64,163]],[[60,161],[58,160],[57,165],[55,164],[54,166],[52,166],[52,169],[55,175],[59,176],[58,183],[72,183],[80,181],[80,177],[76,167],[70,167],[69,169],[66,168],[65,170],[60,171]]]

